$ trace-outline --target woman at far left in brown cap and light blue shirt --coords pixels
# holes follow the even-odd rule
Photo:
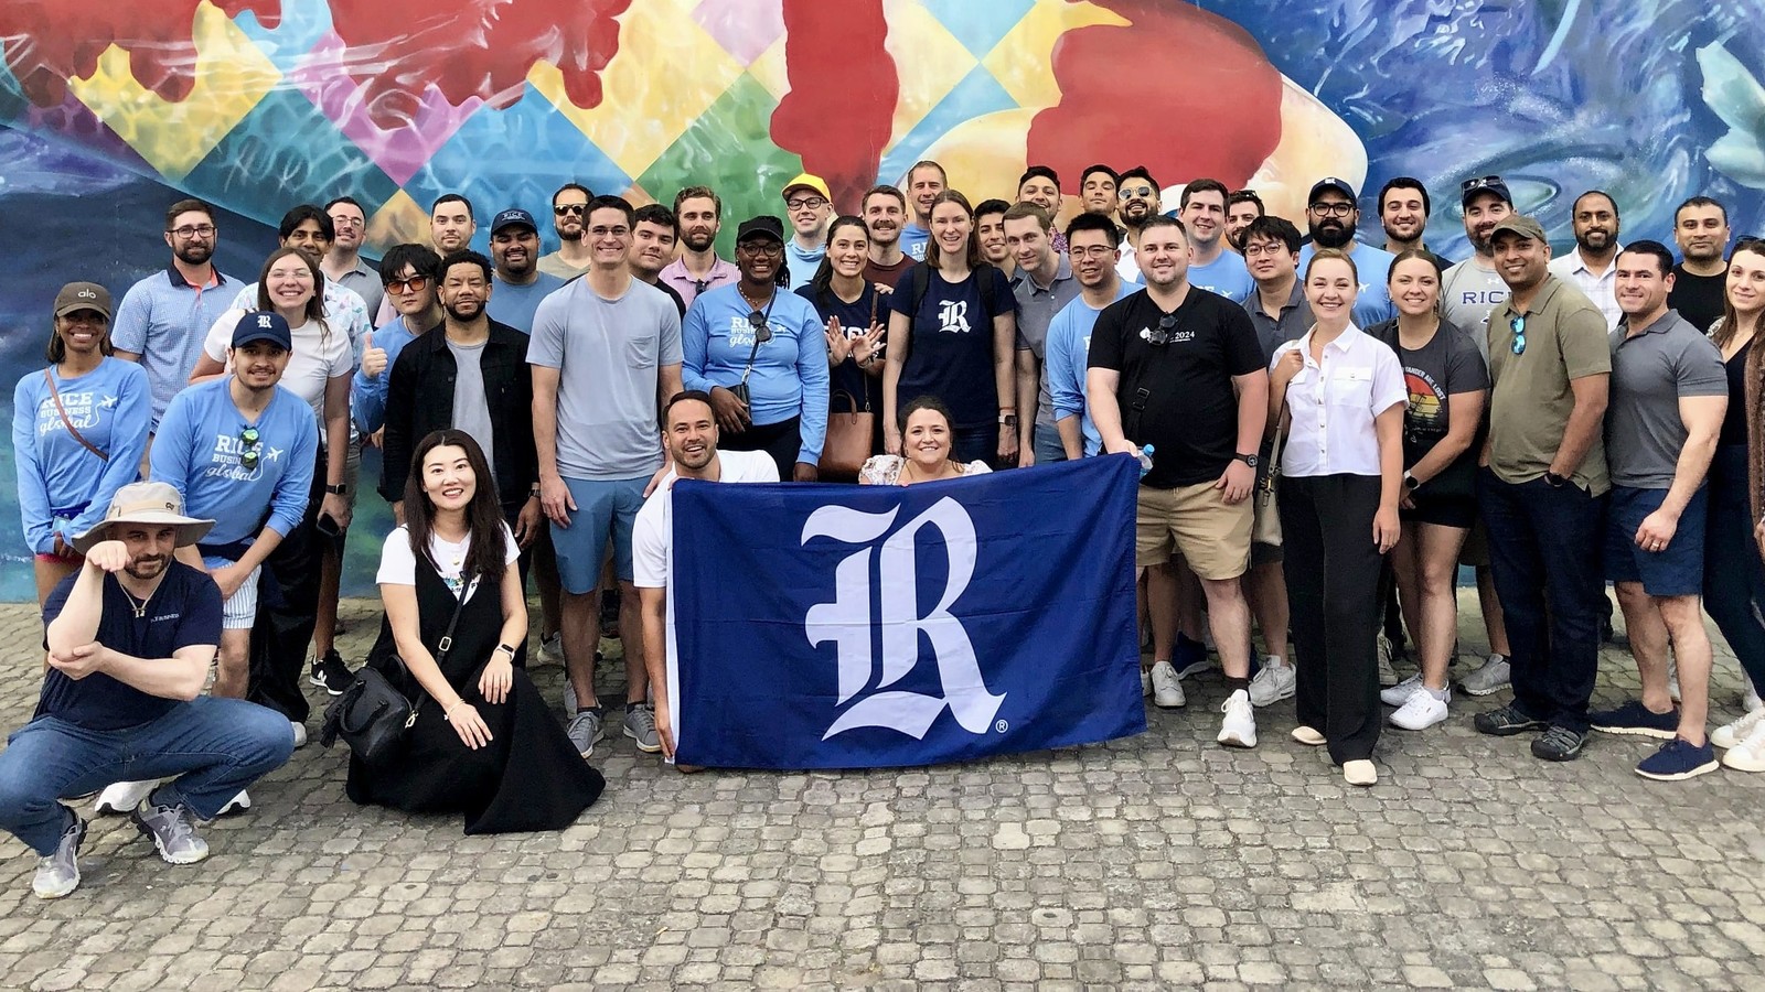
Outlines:
[[[12,390],[12,461],[25,545],[35,556],[37,605],[85,561],[69,538],[104,519],[136,480],[152,395],[146,372],[111,357],[109,293],[69,282],[55,297],[48,369]]]

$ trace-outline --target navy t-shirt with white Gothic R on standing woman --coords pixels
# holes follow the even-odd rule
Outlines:
[[[925,263],[920,263],[925,265]],[[913,309],[913,274],[900,277],[890,309],[913,316],[907,360],[895,387],[895,402],[935,395],[950,408],[951,427],[992,427],[999,422],[999,387],[994,381],[992,318],[1017,305],[1004,274],[983,265],[962,282],[946,282],[935,268],[920,312]],[[980,281],[992,279],[994,311],[983,312]]]

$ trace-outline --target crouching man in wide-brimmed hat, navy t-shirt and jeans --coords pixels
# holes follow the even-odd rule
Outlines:
[[[221,593],[173,552],[212,526],[185,517],[171,485],[136,482],[116,491],[104,522],[74,537],[85,565],[42,607],[49,662],[37,713],[0,754],[0,830],[37,853],[41,898],[79,886],[86,823],[64,796],[108,785],[124,766],[169,778],[148,782],[131,819],[164,861],[191,865],[208,856],[196,821],[221,815],[293,752],[274,710],[201,694],[221,643]]]

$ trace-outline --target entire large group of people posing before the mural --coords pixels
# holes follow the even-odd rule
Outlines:
[[[1553,258],[1476,177],[1449,263],[1414,178],[1378,191],[1382,247],[1336,177],[1303,228],[1211,178],[1170,214],[1145,168],[1077,189],[1057,226],[1047,166],[973,205],[916,162],[851,214],[800,175],[782,217],[736,224],[732,261],[702,185],[635,208],[567,184],[549,254],[521,207],[471,251],[477,205],[447,194],[431,244],[378,268],[339,198],[291,208],[251,284],[214,265],[215,212],[173,203],[166,268],[116,305],[69,282],[14,390],[46,674],[0,752],[0,828],[41,856],[35,891],[78,886],[88,794],[168,861],[203,858],[199,823],[305,743],[302,678],[357,680],[335,634],[365,447],[397,521],[365,664],[411,722],[344,787],[471,833],[575,819],[611,717],[672,759],[676,478],[916,485],[1098,455],[1142,464],[1142,694],[1184,706],[1211,641],[1221,745],[1257,747],[1257,710],[1292,697],[1292,738],[1371,785],[1387,724],[1511,687],[1476,729],[1536,734],[1539,759],[1603,731],[1661,740],[1636,766],[1656,780],[1765,770],[1765,242],[1730,252],[1721,203],[1679,208],[1675,256],[1620,242],[1588,191]],[[842,411],[874,429],[837,457]],[[1490,655],[1454,678],[1460,565]],[[565,722],[524,673],[530,581]],[[1641,695],[1594,711],[1608,581]],[[1703,604],[1751,685],[1714,733]]]

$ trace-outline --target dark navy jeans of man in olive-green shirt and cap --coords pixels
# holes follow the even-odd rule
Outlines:
[[[1573,482],[1502,482],[1477,471],[1477,507],[1490,528],[1495,595],[1513,646],[1514,706],[1536,720],[1587,733],[1599,673],[1606,598],[1599,549],[1604,496]]]

